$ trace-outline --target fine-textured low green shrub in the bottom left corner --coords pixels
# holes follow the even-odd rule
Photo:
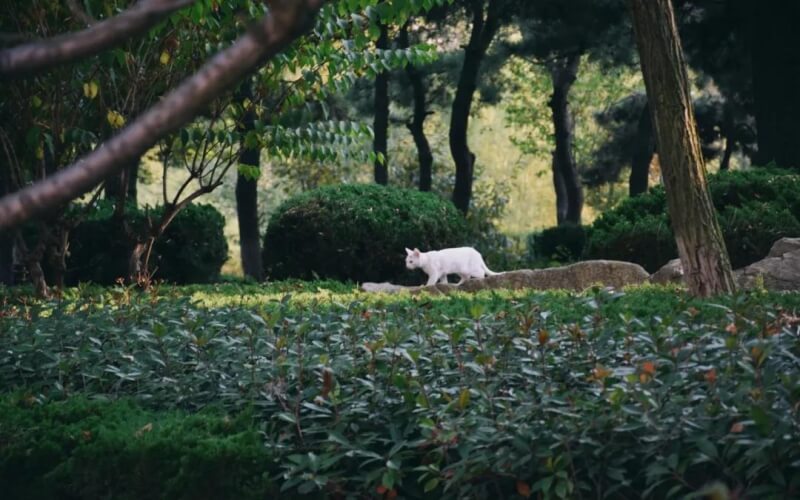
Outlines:
[[[247,418],[129,402],[0,400],[5,498],[265,498],[278,467]],[[270,493],[272,493],[270,495]]]

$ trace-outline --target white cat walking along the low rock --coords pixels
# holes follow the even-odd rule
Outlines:
[[[461,281],[457,285],[469,278],[484,278],[500,274],[486,267],[481,254],[472,247],[445,248],[430,252],[406,248],[406,254],[406,267],[408,269],[422,268],[428,275],[427,286],[436,282],[447,283],[448,274],[457,274],[461,277]]]

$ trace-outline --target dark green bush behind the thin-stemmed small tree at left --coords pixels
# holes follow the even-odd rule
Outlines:
[[[141,232],[145,217],[158,218],[162,210],[129,208],[125,217],[131,230]],[[173,283],[216,281],[228,258],[224,226],[222,214],[211,205],[184,207],[156,240],[150,257],[151,265],[158,268],[155,278]],[[127,277],[132,248],[125,227],[113,217],[113,207],[109,203],[98,204],[70,236],[67,282],[108,285]]]

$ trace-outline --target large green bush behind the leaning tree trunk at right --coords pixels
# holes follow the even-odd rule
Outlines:
[[[756,168],[709,176],[734,268],[764,258],[784,236],[800,235],[800,176]],[[662,187],[625,200],[591,227],[585,257],[627,260],[650,272],[678,256]]]

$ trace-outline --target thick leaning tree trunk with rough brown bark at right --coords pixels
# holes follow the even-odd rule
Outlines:
[[[672,228],[689,290],[735,289],[706,182],[683,50],[670,0],[629,0]]]

